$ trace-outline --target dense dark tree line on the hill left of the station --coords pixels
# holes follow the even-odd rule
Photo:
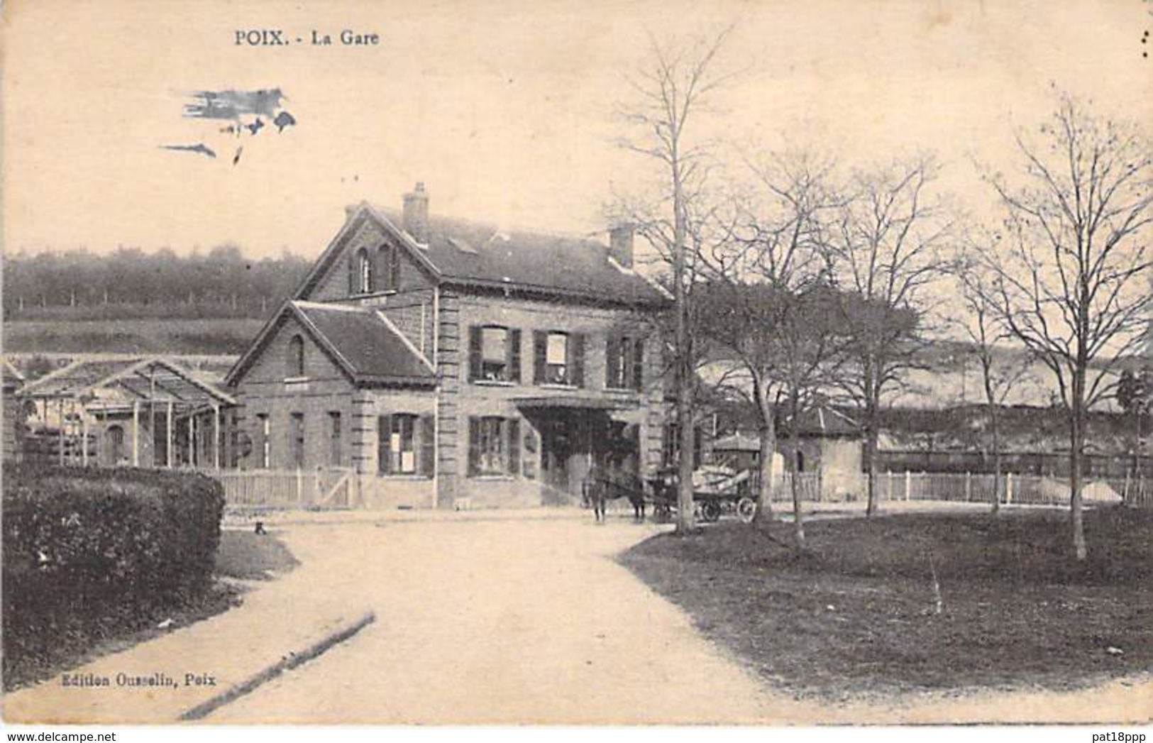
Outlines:
[[[233,245],[189,255],[135,247],[17,253],[5,258],[3,317],[264,317],[310,265],[289,253],[248,257]]]

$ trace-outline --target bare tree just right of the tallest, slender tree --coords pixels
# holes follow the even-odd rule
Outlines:
[[[773,519],[773,459],[782,405],[796,418],[826,381],[836,344],[828,320],[826,215],[838,207],[832,166],[807,153],[749,164],[756,188],[737,210],[723,249],[706,261],[703,332],[724,346],[745,376],[760,421],[760,489],[754,523]],[[796,486],[796,478],[793,479]],[[804,546],[793,488],[794,535]]]

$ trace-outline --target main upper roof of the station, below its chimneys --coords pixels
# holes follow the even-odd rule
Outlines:
[[[660,308],[669,294],[609,258],[604,245],[585,238],[504,232],[483,223],[432,216],[428,243],[401,230],[395,212],[361,203],[317,260],[295,297],[302,299],[340,255],[363,220],[397,239],[414,260],[442,283]]]

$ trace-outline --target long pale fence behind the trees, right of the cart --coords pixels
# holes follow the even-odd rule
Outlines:
[[[802,501],[864,501],[868,493],[865,474],[828,475],[819,472],[785,472],[774,480],[773,501],[792,500],[792,479]],[[877,474],[876,489],[881,501],[949,501],[992,503],[996,475],[972,473],[883,472]],[[1004,474],[1001,476],[1000,501],[1020,505],[1067,505],[1069,481],[1042,475]],[[1153,505],[1153,483],[1130,479],[1087,479],[1082,497],[1086,503],[1121,503]]]

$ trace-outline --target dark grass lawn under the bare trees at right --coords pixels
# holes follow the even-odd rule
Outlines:
[[[721,523],[655,536],[619,560],[798,696],[1068,689],[1148,671],[1153,511],[1087,511],[1084,564],[1070,557],[1067,519],[1034,510],[812,521],[807,554]],[[773,533],[787,540],[791,526]]]

